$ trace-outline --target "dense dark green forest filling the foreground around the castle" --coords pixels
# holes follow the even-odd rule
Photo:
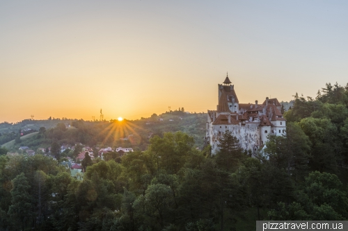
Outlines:
[[[286,135],[269,135],[255,155],[229,131],[216,155],[187,133],[159,132],[145,150],[86,162],[82,179],[51,157],[0,155],[0,230],[255,230],[257,220],[347,220],[348,85],[328,83],[315,99],[295,94],[284,117]],[[40,139],[52,139],[49,132]],[[88,132],[80,138],[96,139]]]

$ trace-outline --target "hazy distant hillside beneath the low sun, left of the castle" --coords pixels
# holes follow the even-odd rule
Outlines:
[[[81,143],[92,147],[127,146],[134,150],[145,150],[150,144],[150,138],[155,135],[161,137],[164,132],[182,131],[193,137],[197,147],[202,147],[206,121],[207,114],[205,113],[190,114],[181,111],[152,114],[149,118],[134,121],[125,119],[122,122],[117,120],[28,119],[13,124],[1,123],[0,141],[2,140],[2,144],[10,151],[17,150],[19,146],[29,146],[35,151],[37,148],[47,148],[53,142],[58,142],[59,145]],[[44,132],[24,136],[21,138],[21,143],[15,144],[14,139],[20,130],[29,128],[29,132],[33,132],[42,127],[45,128]]]

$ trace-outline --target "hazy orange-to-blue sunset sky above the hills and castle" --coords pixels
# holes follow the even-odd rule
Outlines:
[[[347,1],[0,1],[0,122],[139,119],[348,82]]]

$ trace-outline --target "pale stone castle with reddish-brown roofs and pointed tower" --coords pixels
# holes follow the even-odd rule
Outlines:
[[[237,137],[240,146],[252,153],[262,147],[268,135],[285,135],[286,120],[281,114],[279,101],[268,97],[262,104],[239,103],[234,85],[226,77],[219,84],[219,105],[208,110],[205,139],[212,146],[212,154],[219,151],[219,139],[229,130]]]

